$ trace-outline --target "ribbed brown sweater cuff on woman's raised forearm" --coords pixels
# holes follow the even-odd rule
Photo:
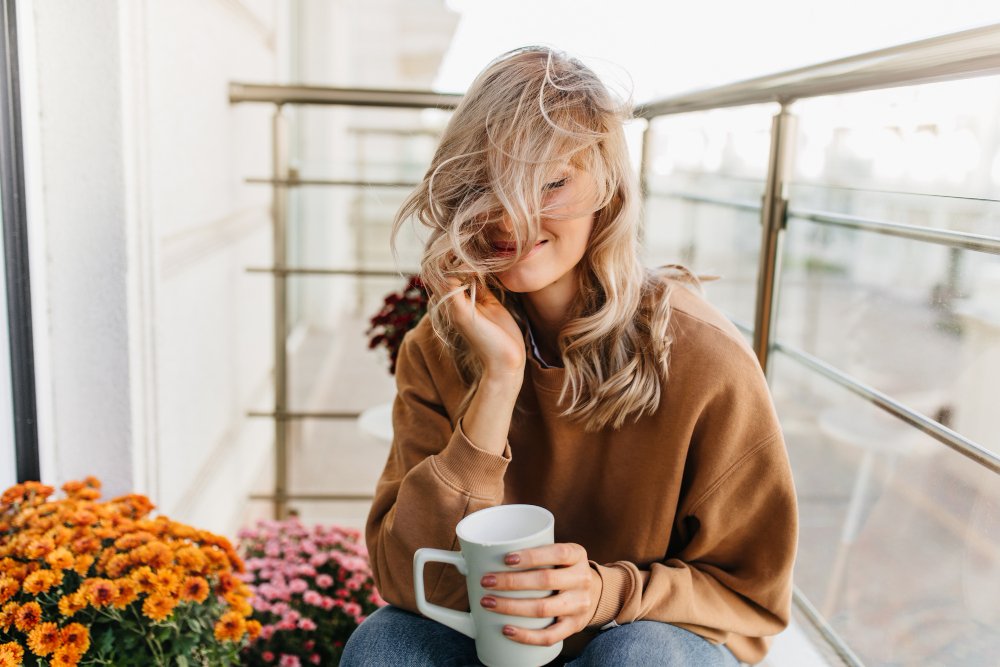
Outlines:
[[[503,477],[510,464],[510,443],[504,445],[504,452],[499,456],[479,449],[465,435],[462,420],[459,420],[448,446],[433,458],[438,475],[451,486],[479,498],[503,496]]]

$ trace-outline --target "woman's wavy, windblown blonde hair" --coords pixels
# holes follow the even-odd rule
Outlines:
[[[489,289],[523,328],[520,299],[497,274],[534,246],[541,219],[556,215],[545,207],[544,186],[567,163],[589,172],[596,196],[583,202],[594,212],[593,231],[558,336],[566,368],[559,400],[570,399],[562,414],[595,431],[657,409],[668,375],[670,286],[639,258],[641,203],[623,130],[630,117],[631,105],[587,66],[545,47],[494,60],[452,115],[423,181],[396,214],[392,243],[395,251],[399,228],[412,216],[431,230],[421,277],[434,331],[469,384],[461,413],[483,368],[440,308],[458,292],[449,279]],[[496,256],[488,238],[505,216],[517,243],[513,257]]]

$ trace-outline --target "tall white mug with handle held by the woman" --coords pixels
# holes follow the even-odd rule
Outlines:
[[[552,594],[553,591],[486,591],[480,584],[485,574],[517,569],[504,563],[508,553],[552,544],[555,541],[552,513],[537,505],[498,505],[473,512],[459,521],[455,534],[462,546],[460,552],[418,549],[413,554],[413,583],[420,613],[475,639],[476,654],[487,667],[539,667],[555,660],[562,651],[561,641],[552,646],[530,646],[503,634],[505,625],[540,630],[555,619],[508,616],[479,604],[487,593],[511,598]],[[430,562],[450,563],[465,575],[471,613],[427,602],[424,565]]]

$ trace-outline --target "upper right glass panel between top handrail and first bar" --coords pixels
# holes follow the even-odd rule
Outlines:
[[[795,102],[791,207],[1000,236],[998,109],[995,76]]]

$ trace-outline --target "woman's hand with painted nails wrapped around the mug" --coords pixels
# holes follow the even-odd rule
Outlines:
[[[497,591],[500,595],[486,595],[480,604],[498,614],[556,618],[544,630],[506,625],[503,632],[509,639],[522,644],[552,646],[586,628],[594,617],[603,584],[601,576],[588,563],[587,550],[579,544],[550,544],[522,549],[507,554],[504,562],[518,570],[530,571],[484,575],[480,581],[483,588]],[[551,590],[555,591],[555,595],[529,599],[503,597],[502,591],[520,590]]]

